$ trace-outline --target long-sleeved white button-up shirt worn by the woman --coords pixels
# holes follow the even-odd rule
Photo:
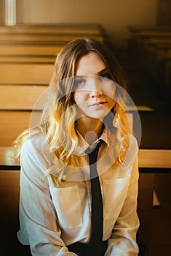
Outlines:
[[[100,138],[103,144],[98,157],[106,148],[114,148],[116,141],[116,137],[106,131]],[[103,241],[108,240],[106,256],[138,255],[138,146],[132,135],[130,138],[132,143],[124,168],[123,165],[113,167],[105,159],[98,162],[103,197]],[[87,146],[84,143],[84,150]],[[20,165],[19,241],[31,246],[33,256],[76,255],[68,252],[66,246],[76,241],[89,242],[90,180],[71,181],[57,187],[50,176],[44,176],[49,168],[56,166],[44,135],[25,141]]]

